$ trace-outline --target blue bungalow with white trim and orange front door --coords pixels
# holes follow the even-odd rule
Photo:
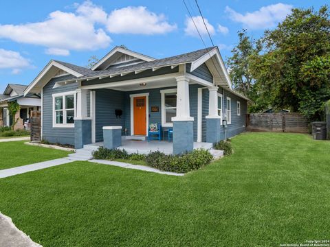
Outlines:
[[[115,47],[91,69],[51,60],[25,95],[41,93],[41,134],[52,143],[83,148],[103,141],[104,126],[144,137],[157,123],[173,128],[180,153],[245,130],[249,99],[231,87],[217,47],[163,59]]]

